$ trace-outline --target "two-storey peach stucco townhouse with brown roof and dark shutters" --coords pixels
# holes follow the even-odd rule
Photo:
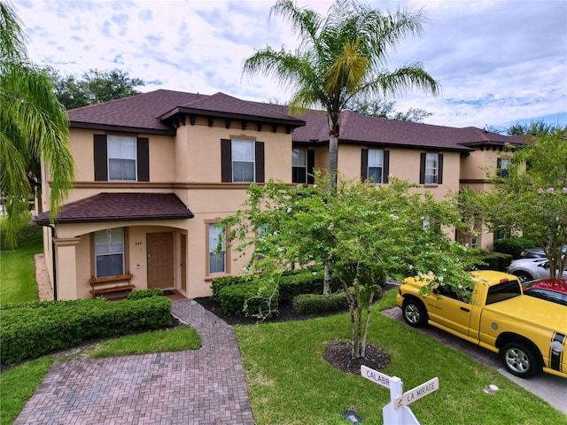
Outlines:
[[[237,211],[251,183],[310,184],[329,159],[323,112],[292,117],[286,106],[222,93],[156,90],[69,111],[69,120],[74,188],[53,226],[49,212],[35,218],[58,299],[90,298],[116,282],[210,295],[214,277],[245,266],[230,249],[215,252],[214,223]],[[343,112],[338,169],[377,184],[394,175],[442,199],[462,185],[484,189],[507,142],[521,143]],[[44,169],[40,211],[48,176]]]

